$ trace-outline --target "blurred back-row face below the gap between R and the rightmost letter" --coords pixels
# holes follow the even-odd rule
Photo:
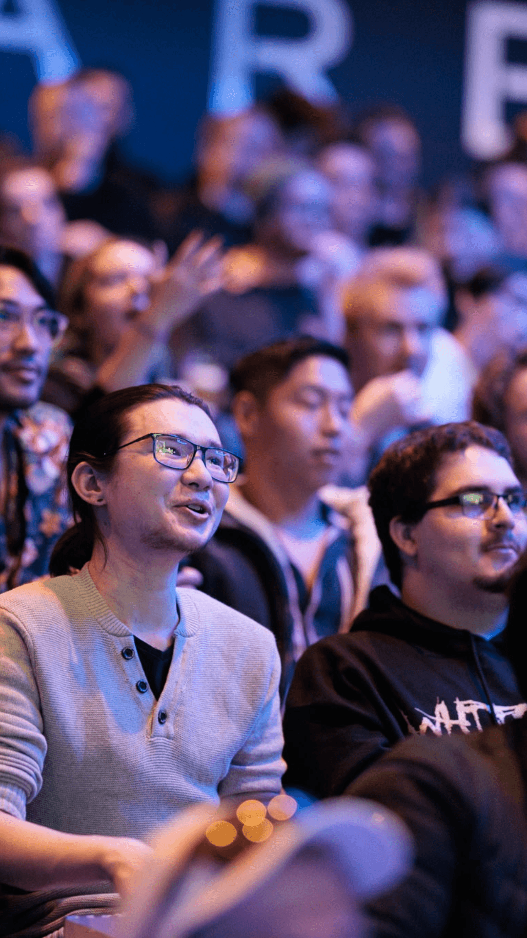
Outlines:
[[[368,129],[368,144],[385,188],[414,186],[421,166],[421,141],[412,124],[379,120]]]

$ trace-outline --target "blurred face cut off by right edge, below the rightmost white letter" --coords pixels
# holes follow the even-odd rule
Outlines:
[[[484,175],[483,188],[502,250],[527,259],[527,166],[494,163]]]

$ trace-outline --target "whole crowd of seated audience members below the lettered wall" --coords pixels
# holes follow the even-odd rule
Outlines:
[[[428,193],[392,105],[133,116],[0,142],[0,938],[520,938],[525,120]]]

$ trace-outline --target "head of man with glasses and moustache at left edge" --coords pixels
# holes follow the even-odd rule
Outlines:
[[[0,248],[0,412],[38,401],[54,343],[68,320],[53,287],[22,251]]]

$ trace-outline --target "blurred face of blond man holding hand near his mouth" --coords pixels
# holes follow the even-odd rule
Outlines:
[[[439,317],[437,298],[424,287],[379,288],[369,314],[348,325],[346,344],[355,390],[371,378],[406,369],[420,376],[428,364]]]

